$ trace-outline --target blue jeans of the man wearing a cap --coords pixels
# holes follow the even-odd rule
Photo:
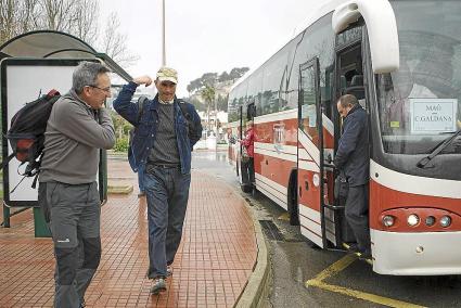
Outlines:
[[[182,175],[177,167],[148,165],[144,189],[148,200],[149,272],[155,279],[166,277],[179,243],[189,198],[191,174]]]

